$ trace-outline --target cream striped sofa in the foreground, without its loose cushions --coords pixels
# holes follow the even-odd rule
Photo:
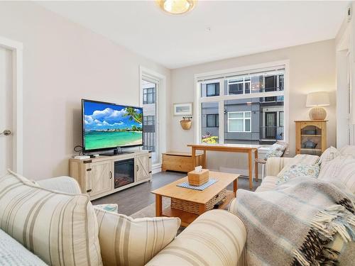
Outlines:
[[[44,179],[38,184],[45,189],[80,193],[80,187],[71,177]],[[212,210],[191,223],[148,265],[236,265],[245,242],[246,230],[238,217],[228,211]],[[104,250],[107,247],[100,241],[100,248]],[[0,231],[0,265],[46,264],[23,248],[21,243]]]

